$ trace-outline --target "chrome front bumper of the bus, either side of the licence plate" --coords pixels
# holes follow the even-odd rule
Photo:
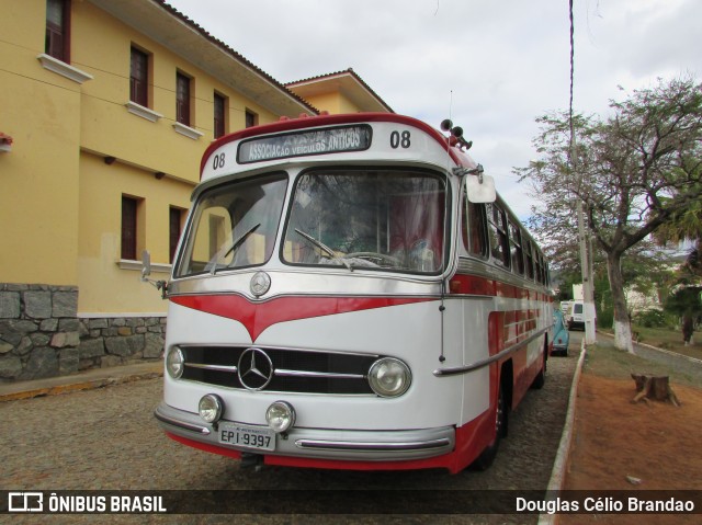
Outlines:
[[[236,447],[219,443],[217,431],[197,414],[173,409],[161,402],[154,412],[160,426],[173,434],[201,443],[240,452],[305,458],[401,461],[441,456],[453,450],[453,426],[398,431],[352,431],[293,429],[278,435],[274,452]],[[224,421],[224,420],[223,420]]]

